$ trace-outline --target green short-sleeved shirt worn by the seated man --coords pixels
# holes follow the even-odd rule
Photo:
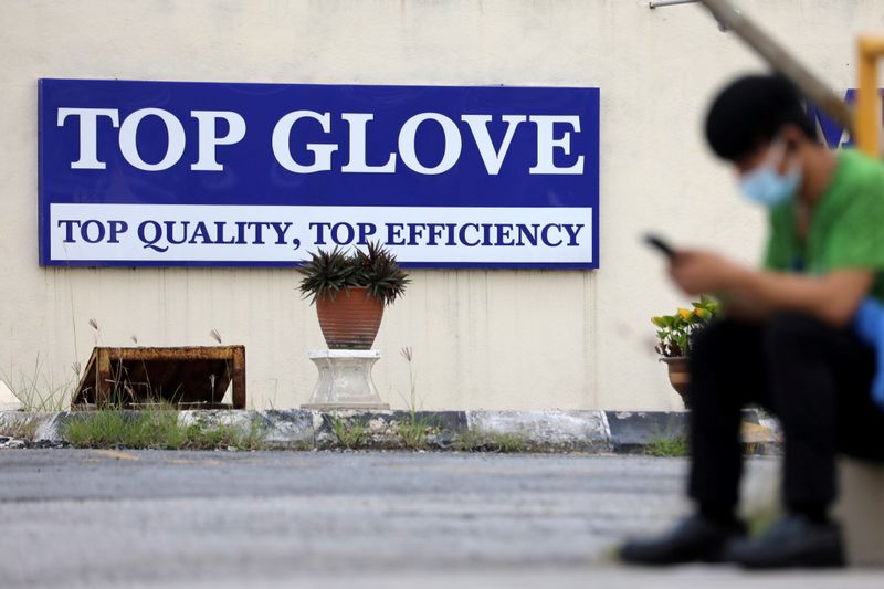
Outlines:
[[[811,213],[804,243],[798,238],[794,201],[775,208],[765,267],[815,275],[872,270],[870,294],[884,299],[884,164],[855,150],[841,151]]]

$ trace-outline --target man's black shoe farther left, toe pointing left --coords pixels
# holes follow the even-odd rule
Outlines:
[[[699,514],[692,515],[663,536],[628,541],[620,548],[620,559],[630,565],[648,566],[717,562],[728,540],[745,534],[743,522],[723,524]]]

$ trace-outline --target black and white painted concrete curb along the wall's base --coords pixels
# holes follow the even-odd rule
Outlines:
[[[65,424],[94,412],[0,411],[0,448],[64,445]],[[629,411],[181,411],[182,425],[259,428],[272,449],[406,448],[403,433],[424,432],[430,450],[645,453],[661,441],[684,438],[686,412]],[[777,454],[776,420],[757,410],[743,416],[746,450]],[[6,440],[4,440],[6,439]],[[23,443],[20,441],[24,441]]]

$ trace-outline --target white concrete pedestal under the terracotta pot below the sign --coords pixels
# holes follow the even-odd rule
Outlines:
[[[380,400],[371,380],[371,368],[380,359],[380,351],[323,349],[309,353],[308,358],[319,370],[319,380],[313,389],[311,401],[301,406],[302,409],[390,409]]]

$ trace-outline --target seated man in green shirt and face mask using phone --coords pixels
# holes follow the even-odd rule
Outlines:
[[[670,274],[684,292],[717,293],[726,309],[691,357],[688,494],[696,509],[661,537],[627,543],[621,557],[843,566],[840,529],[829,517],[835,453],[884,461],[869,344],[884,337],[873,325],[884,299],[884,166],[823,147],[798,92],[778,76],[743,77],[722,91],[706,137],[733,164],[744,194],[769,209],[767,254],[764,270],[705,251],[673,259]],[[787,515],[756,539],[735,515],[747,403],[776,414],[785,437]]]

